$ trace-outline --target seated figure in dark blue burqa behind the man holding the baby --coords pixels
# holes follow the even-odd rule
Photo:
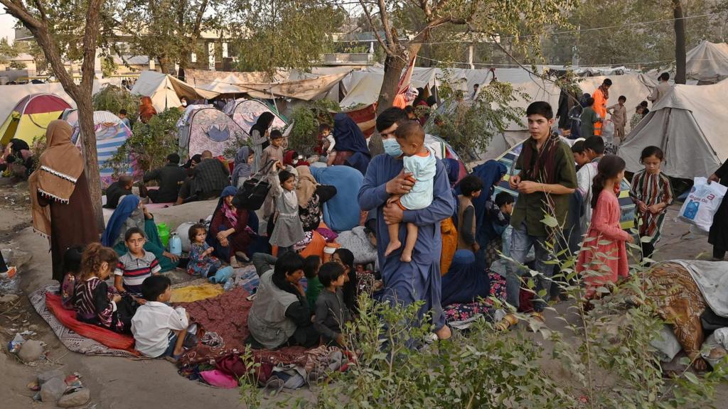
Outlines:
[[[475,255],[470,250],[457,250],[453,261],[442,278],[441,303],[472,303],[478,298],[488,298],[491,279],[485,269],[478,268]]]

